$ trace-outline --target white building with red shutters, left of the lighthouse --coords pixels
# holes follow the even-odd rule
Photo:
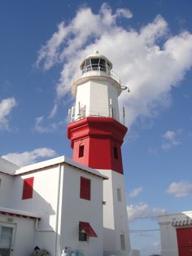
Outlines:
[[[36,245],[103,255],[103,179],[66,157],[23,168],[0,158],[0,255],[30,255]]]

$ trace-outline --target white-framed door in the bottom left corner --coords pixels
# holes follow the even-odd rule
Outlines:
[[[14,225],[0,223],[0,256],[11,256]]]

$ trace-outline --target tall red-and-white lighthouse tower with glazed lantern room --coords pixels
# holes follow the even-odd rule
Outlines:
[[[76,104],[68,125],[73,161],[99,170],[103,183],[103,256],[131,254],[121,145],[127,127],[120,118],[120,77],[98,51],[81,62],[72,81]],[[97,214],[97,213],[95,213]]]

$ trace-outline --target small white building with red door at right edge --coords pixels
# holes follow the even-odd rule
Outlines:
[[[192,211],[159,217],[161,256],[192,255]]]

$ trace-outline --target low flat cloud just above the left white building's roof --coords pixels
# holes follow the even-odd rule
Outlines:
[[[39,161],[41,158],[55,157],[56,152],[50,148],[36,148],[33,151],[13,152],[2,156],[2,158],[13,162],[17,166],[28,166]]]

